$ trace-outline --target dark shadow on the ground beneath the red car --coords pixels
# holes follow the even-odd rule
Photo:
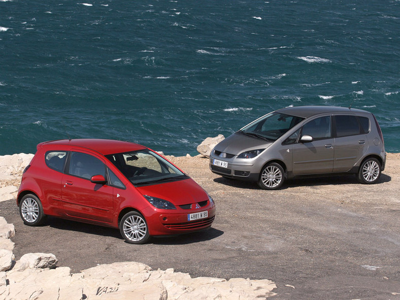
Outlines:
[[[83,234],[97,235],[103,237],[111,237],[124,241],[117,228],[103,227],[88,223],[81,223],[72,220],[60,219],[47,216],[45,223],[42,226],[50,226],[59,230],[76,231]],[[149,244],[155,245],[186,245],[197,242],[213,240],[223,235],[224,232],[216,228],[208,228],[201,231],[195,231],[188,234],[178,236],[160,236],[152,237]]]

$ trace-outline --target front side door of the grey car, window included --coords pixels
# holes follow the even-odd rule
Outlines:
[[[334,168],[335,140],[332,138],[331,117],[319,117],[303,125],[301,137],[311,141],[293,145],[293,175],[322,174]]]

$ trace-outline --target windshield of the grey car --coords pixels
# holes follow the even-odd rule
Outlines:
[[[274,142],[302,120],[304,118],[274,112],[248,124],[239,130],[238,133]]]

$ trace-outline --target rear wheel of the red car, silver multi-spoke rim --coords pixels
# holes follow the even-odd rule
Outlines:
[[[42,224],[45,214],[39,198],[34,194],[26,194],[19,203],[19,214],[25,225],[38,226]]]

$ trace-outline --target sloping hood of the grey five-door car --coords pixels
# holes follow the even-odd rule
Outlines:
[[[271,144],[272,142],[261,139],[241,134],[233,134],[217,144],[214,149],[224,153],[239,155],[247,150],[268,148]]]

